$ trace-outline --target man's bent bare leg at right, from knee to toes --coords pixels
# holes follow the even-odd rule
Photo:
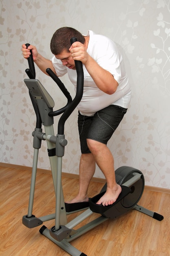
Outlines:
[[[94,156],[95,162],[104,173],[107,182],[106,193],[100,198],[97,204],[104,206],[113,204],[121,193],[121,186],[115,180],[114,159],[108,147],[98,141],[87,139],[88,148]]]

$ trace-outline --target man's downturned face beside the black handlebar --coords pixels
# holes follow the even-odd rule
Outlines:
[[[71,57],[71,53],[63,50],[62,53],[55,55],[55,58],[62,61],[62,65],[75,70],[75,62]]]

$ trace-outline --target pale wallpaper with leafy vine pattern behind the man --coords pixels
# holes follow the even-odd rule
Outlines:
[[[35,114],[23,81],[28,64],[21,45],[34,44],[51,58],[56,29],[70,26],[82,34],[91,29],[118,45],[132,87],[130,108],[108,143],[115,168],[134,166],[146,185],[170,189],[170,1],[0,0],[0,10],[0,162],[31,166],[33,160]],[[53,95],[54,110],[64,106],[55,83],[37,68],[36,78]],[[62,81],[74,97],[68,77]],[[77,174],[77,110],[66,121],[65,136],[63,171]],[[38,167],[50,168],[46,141]],[[98,168],[95,177],[104,177]]]

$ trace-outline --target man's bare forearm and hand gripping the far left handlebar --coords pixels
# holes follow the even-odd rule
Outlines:
[[[53,72],[56,74],[51,60],[48,60],[48,59],[44,58],[41,54],[39,54],[37,51],[37,48],[35,46],[29,45],[29,47],[26,48],[26,45],[22,45],[22,54],[23,54],[24,58],[26,58],[26,59],[29,58],[29,56],[31,55],[30,50],[32,50],[33,61],[40,68],[40,70],[42,70],[42,72],[44,72],[46,75],[48,75],[46,73],[46,69],[51,68],[51,70],[53,70]]]

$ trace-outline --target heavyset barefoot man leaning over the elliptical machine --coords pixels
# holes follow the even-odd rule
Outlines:
[[[70,38],[77,42],[70,46]],[[106,193],[97,204],[113,204],[121,193],[115,181],[114,159],[107,142],[119,125],[130,102],[130,85],[124,68],[122,55],[115,43],[102,35],[88,31],[83,36],[79,31],[62,27],[51,39],[51,60],[40,55],[35,46],[26,49],[22,45],[24,58],[32,50],[33,60],[42,72],[50,67],[57,76],[68,73],[75,85],[77,73],[74,61],[82,61],[84,70],[84,92],[77,108],[78,128],[81,145],[79,164],[79,192],[67,203],[88,202],[88,186],[95,173],[95,164],[104,173]]]

